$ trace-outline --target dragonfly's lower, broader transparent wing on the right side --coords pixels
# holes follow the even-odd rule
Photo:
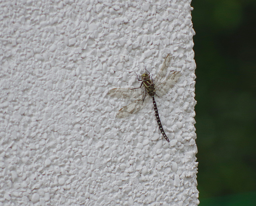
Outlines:
[[[164,82],[156,85],[156,95],[158,95],[159,97],[165,95],[180,79],[180,76],[180,71],[174,71],[173,73],[171,73]]]

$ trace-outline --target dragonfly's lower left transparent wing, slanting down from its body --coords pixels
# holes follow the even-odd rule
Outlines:
[[[145,107],[145,105],[148,103],[149,99],[150,99],[150,97],[148,94],[146,95],[146,97],[145,97],[145,95],[141,96],[139,99],[136,99],[132,103],[130,103],[130,104],[124,106],[122,109],[120,109],[118,111],[118,113],[116,114],[116,117],[123,118],[123,117],[127,117],[130,114],[134,114],[134,113],[140,111],[140,109]]]

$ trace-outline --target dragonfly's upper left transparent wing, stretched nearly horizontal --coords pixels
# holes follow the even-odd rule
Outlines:
[[[138,88],[115,88],[108,91],[108,95],[116,98],[138,98],[145,94],[143,87]]]

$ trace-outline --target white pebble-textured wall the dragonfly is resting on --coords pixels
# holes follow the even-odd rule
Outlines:
[[[0,206],[196,205],[190,0],[0,2]],[[180,81],[125,119],[114,87]]]

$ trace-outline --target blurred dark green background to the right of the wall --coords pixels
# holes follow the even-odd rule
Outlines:
[[[200,206],[256,205],[256,0],[192,0]]]

